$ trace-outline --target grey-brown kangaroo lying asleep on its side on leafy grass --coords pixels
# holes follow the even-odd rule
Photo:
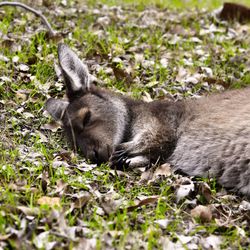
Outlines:
[[[168,162],[250,198],[250,88],[146,103],[96,87],[65,44],[58,57],[68,100],[50,98],[46,109],[87,159],[113,168]]]

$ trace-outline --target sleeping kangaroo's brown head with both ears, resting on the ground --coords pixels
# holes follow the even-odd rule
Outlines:
[[[93,162],[105,162],[123,139],[125,104],[121,97],[91,84],[87,66],[65,44],[59,45],[58,58],[68,100],[50,98],[46,110],[61,120],[75,149]]]

